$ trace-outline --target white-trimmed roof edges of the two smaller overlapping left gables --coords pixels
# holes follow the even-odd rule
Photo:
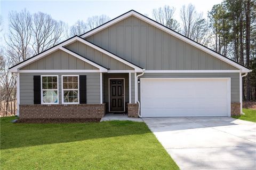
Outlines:
[[[91,60],[85,58],[84,56],[79,55],[79,54],[77,54],[77,53],[67,49],[66,47],[64,47],[65,45],[71,44],[71,43],[76,42],[76,41],[79,41],[79,42],[81,42],[83,44],[86,44],[86,45],[94,48],[95,50],[98,50],[98,51],[100,51],[100,52],[110,56],[111,58],[114,58],[114,59],[116,59],[116,60],[118,60],[118,61],[120,61],[120,62],[122,62],[122,63],[124,63],[124,64],[126,64],[126,65],[128,65],[128,66],[130,66],[132,68],[134,68],[135,72],[142,72],[143,71],[143,69],[141,67],[136,66],[135,64],[133,64],[133,63],[131,63],[129,61],[126,61],[123,58],[121,58],[121,57],[119,57],[119,56],[117,56],[117,55],[115,55],[113,53],[110,53],[109,51],[106,51],[105,49],[103,49],[103,48],[101,48],[101,47],[99,47],[99,46],[97,46],[97,45],[95,45],[95,44],[93,44],[93,43],[91,43],[89,41],[86,41],[85,39],[83,39],[81,37],[78,37],[77,35],[75,35],[74,37],[71,37],[71,38],[67,39],[66,41],[63,41],[62,43],[59,43],[59,44],[57,44],[57,45],[55,45],[55,46],[53,46],[53,47],[51,47],[51,48],[49,48],[49,49],[39,53],[37,55],[34,55],[34,56],[32,56],[31,58],[29,58],[27,60],[24,60],[24,61],[22,61],[22,62],[20,62],[20,63],[18,63],[16,65],[10,67],[9,71],[11,71],[11,72],[18,72],[18,70],[20,68],[27,66],[29,63],[34,62],[36,60],[39,60],[39,59],[43,58],[44,56],[46,56],[47,54],[50,54],[50,53],[52,53],[54,51],[62,50],[62,51],[65,51],[65,52],[69,53],[70,55],[75,56],[78,59],[81,59],[81,60],[91,64],[92,66],[95,66],[95,67],[99,68],[99,70],[101,72],[107,72],[108,69],[106,67],[103,67],[100,64],[95,63],[94,61],[91,61]]]

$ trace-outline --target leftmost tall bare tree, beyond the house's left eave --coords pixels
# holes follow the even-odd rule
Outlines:
[[[30,39],[32,35],[32,17],[29,12],[22,10],[20,13],[9,13],[9,35],[5,39],[9,47],[8,55],[14,63],[26,60],[31,56]]]

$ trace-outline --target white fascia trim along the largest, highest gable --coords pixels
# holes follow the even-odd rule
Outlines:
[[[155,27],[157,27],[157,28],[159,28],[159,29],[165,31],[166,33],[169,33],[169,34],[173,35],[174,37],[177,37],[177,38],[181,39],[182,41],[185,41],[186,43],[189,43],[190,45],[193,45],[193,46],[195,46],[195,47],[197,47],[197,48],[203,50],[203,51],[206,52],[206,53],[209,53],[209,54],[215,56],[216,58],[218,58],[218,59],[220,59],[220,60],[222,60],[222,61],[225,61],[225,62],[229,63],[231,66],[234,66],[234,67],[236,67],[236,68],[238,68],[238,69],[241,69],[242,72],[251,72],[251,71],[252,71],[252,70],[249,70],[249,69],[247,69],[247,68],[245,68],[245,67],[243,67],[243,66],[237,64],[237,63],[234,62],[234,61],[231,61],[231,60],[229,60],[229,59],[223,57],[222,55],[220,55],[220,54],[218,54],[218,53],[215,53],[215,52],[209,50],[208,48],[204,47],[203,45],[197,44],[197,43],[195,43],[194,41],[191,41],[190,39],[188,39],[188,38],[186,38],[186,37],[183,37],[182,35],[180,35],[180,34],[178,34],[178,33],[175,33],[174,31],[172,31],[172,30],[170,30],[170,29],[168,29],[168,28],[162,26],[161,24],[159,24],[159,23],[157,23],[157,22],[154,22],[154,21],[152,21],[152,20],[150,20],[150,19],[144,17],[143,15],[141,15],[141,14],[139,14],[139,13],[137,13],[137,12],[134,12],[134,11],[130,11],[130,12],[128,12],[128,13],[126,13],[126,14],[124,14],[124,15],[118,17],[118,18],[116,18],[116,19],[113,20],[113,21],[110,21],[110,22],[106,23],[105,25],[103,25],[103,26],[101,26],[101,27],[98,27],[97,29],[94,29],[94,30],[90,31],[89,33],[86,33],[86,34],[82,35],[81,37],[82,37],[82,38],[86,38],[86,37],[88,37],[88,36],[90,36],[90,35],[92,35],[92,34],[95,34],[95,33],[99,32],[99,31],[101,31],[102,29],[104,29],[104,28],[106,28],[106,27],[109,27],[109,26],[111,26],[111,25],[114,25],[115,23],[117,23],[117,22],[119,22],[119,21],[121,21],[121,20],[123,20],[123,19],[125,19],[125,18],[128,18],[128,17],[130,17],[130,16],[132,16],[132,15],[133,15],[134,17],[137,17],[137,18],[139,18],[139,19],[141,19],[141,20],[143,20],[143,21],[149,23],[150,25],[153,25],[153,26],[155,26]],[[137,72],[138,72],[138,71],[137,71]]]

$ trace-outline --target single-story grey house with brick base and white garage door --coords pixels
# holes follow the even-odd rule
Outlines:
[[[131,10],[10,71],[29,119],[239,115],[251,70]]]

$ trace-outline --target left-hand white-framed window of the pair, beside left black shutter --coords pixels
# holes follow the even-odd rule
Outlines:
[[[58,76],[41,76],[42,104],[58,104]]]

